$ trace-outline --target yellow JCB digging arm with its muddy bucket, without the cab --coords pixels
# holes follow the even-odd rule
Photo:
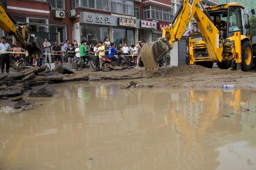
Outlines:
[[[199,6],[203,8],[203,11]],[[207,46],[209,59],[212,62],[223,61],[223,45],[229,45],[230,42],[220,43],[219,31],[212,23],[211,17],[204,9],[201,0],[183,0],[172,23],[166,28],[162,28],[162,37],[156,42],[143,45],[140,54],[146,69],[158,68],[158,61],[172,49],[176,41],[180,40],[192,17],[195,18],[201,31],[202,38]],[[174,22],[175,24],[173,24]]]

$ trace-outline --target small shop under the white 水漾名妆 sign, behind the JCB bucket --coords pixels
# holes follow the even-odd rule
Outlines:
[[[140,20],[139,41],[153,42],[152,31],[157,30],[157,22]]]

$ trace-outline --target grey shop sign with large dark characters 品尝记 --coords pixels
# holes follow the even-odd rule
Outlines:
[[[80,23],[118,26],[117,25],[117,17],[115,17],[115,16],[96,14],[96,13],[90,13],[90,12],[81,12],[80,16],[81,16]]]

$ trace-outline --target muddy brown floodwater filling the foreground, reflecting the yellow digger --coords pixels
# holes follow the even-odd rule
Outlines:
[[[23,95],[31,111],[1,108],[0,170],[256,169],[256,91],[122,86],[55,84]]]

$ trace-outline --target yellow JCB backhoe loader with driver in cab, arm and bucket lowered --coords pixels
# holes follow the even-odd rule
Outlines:
[[[255,14],[254,10],[252,14]],[[217,16],[221,16],[221,20],[227,25],[222,30],[223,37],[220,36],[221,30],[215,26]],[[248,14],[245,14],[244,7],[240,3],[230,3],[204,8],[201,0],[181,1],[172,22],[161,29],[162,37],[156,42],[143,45],[141,59],[146,70],[158,68],[158,61],[180,40],[192,17],[201,31],[202,40],[189,40],[191,65],[212,68],[213,62],[217,62],[220,68],[227,69],[234,60],[237,70],[250,70],[253,64],[253,48]]]

